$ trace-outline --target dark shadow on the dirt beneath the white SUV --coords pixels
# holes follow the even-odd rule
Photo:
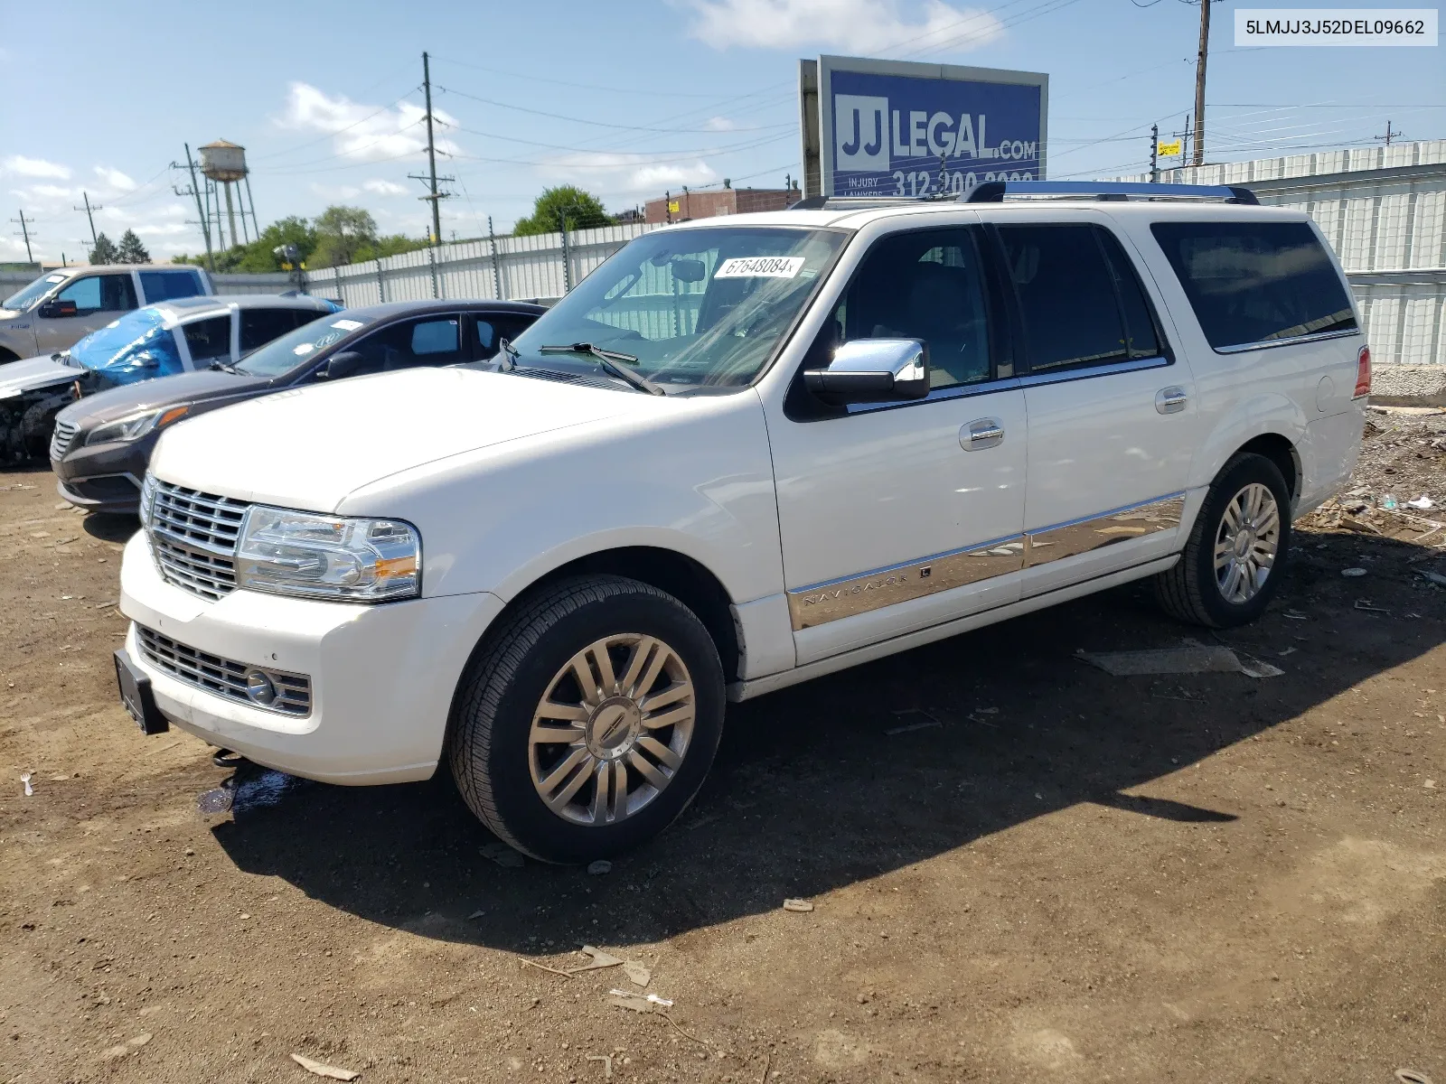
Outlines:
[[[493,840],[445,772],[414,786],[302,785],[275,805],[239,802],[213,831],[240,869],[369,921],[536,954],[777,909],[1079,802],[1197,831],[1241,814],[1125,792],[1446,639],[1439,600],[1423,597],[1434,588],[1398,562],[1374,582],[1378,604],[1421,617],[1358,611],[1338,558],[1297,559],[1271,611],[1220,637],[1288,671],[1272,679],[1113,678],[1082,663],[1079,649],[1210,639],[1131,585],[733,705],[697,801],[609,876],[489,860]]]

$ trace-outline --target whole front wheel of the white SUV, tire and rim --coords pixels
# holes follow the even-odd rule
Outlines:
[[[523,603],[469,668],[453,776],[521,851],[616,854],[687,808],[723,705],[717,649],[683,603],[623,577],[565,580]]]

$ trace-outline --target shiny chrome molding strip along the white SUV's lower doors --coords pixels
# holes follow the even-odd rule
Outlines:
[[[1183,515],[1184,493],[1168,493],[1139,504],[1111,509],[1069,523],[1053,523],[967,549],[934,554],[862,575],[800,587],[788,593],[788,614],[794,632],[813,629],[842,617],[853,617],[996,575],[1079,556],[1160,530],[1174,530],[1180,526]]]

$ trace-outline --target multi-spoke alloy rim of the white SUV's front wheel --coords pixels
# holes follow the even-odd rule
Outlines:
[[[672,648],[617,633],[580,650],[532,714],[528,769],[574,824],[623,821],[672,782],[693,739],[693,678]]]

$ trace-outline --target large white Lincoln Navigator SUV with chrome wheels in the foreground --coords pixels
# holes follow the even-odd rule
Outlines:
[[[121,568],[142,728],[334,783],[447,762],[577,861],[684,809],[729,700],[1145,577],[1184,621],[1265,608],[1369,392],[1304,214],[808,202],[636,238],[493,361],[169,429]],[[414,334],[338,330],[341,369]]]

